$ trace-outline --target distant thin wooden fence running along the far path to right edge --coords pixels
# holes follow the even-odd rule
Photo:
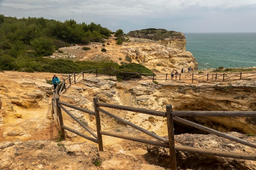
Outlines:
[[[166,80],[166,81],[189,81],[192,83],[197,82],[224,82],[234,80],[256,80],[256,72],[245,72],[245,73],[182,73],[177,75],[177,79],[174,75],[173,79],[169,73],[131,73],[119,71],[113,68],[99,68],[94,70],[82,71],[81,73],[72,73],[69,77],[63,80],[63,84],[60,84],[61,89],[68,88],[73,82],[76,84],[85,77],[98,77],[101,75],[115,75],[119,79],[124,80]],[[64,92],[64,91],[63,91]]]

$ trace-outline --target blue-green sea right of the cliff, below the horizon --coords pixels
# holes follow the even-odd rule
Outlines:
[[[256,33],[184,33],[186,51],[205,68],[256,66]]]

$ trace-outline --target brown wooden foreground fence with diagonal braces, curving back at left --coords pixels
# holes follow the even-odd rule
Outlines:
[[[97,75],[97,70],[93,71],[94,74],[96,73]],[[101,72],[100,74],[102,74]],[[90,76],[93,73],[89,73],[86,76]],[[98,76],[98,75],[97,75]],[[220,156],[220,157],[230,157],[230,158],[235,158],[235,159],[247,159],[247,160],[253,160],[256,161],[256,155],[247,155],[247,154],[241,154],[241,153],[232,153],[232,152],[224,152],[224,151],[218,151],[218,150],[207,150],[207,149],[201,149],[201,148],[193,148],[193,147],[188,147],[188,146],[175,146],[175,136],[174,136],[174,128],[173,128],[173,121],[180,122],[184,125],[187,126],[192,126],[194,128],[198,128],[202,131],[208,132],[215,134],[219,137],[223,137],[226,139],[229,139],[231,141],[236,141],[240,144],[244,144],[253,148],[256,148],[256,144],[246,141],[244,139],[240,139],[237,137],[233,137],[231,135],[227,135],[225,133],[219,132],[217,130],[213,130],[211,128],[207,128],[205,126],[202,126],[200,124],[196,124],[194,122],[188,121],[186,119],[182,119],[180,117],[182,116],[200,116],[200,117],[209,117],[209,116],[214,116],[214,117],[256,117],[256,111],[173,111],[171,105],[166,105],[166,112],[161,112],[161,111],[155,111],[155,110],[148,110],[148,109],[142,109],[142,108],[134,108],[134,107],[129,107],[129,106],[121,106],[121,105],[115,105],[115,104],[107,104],[107,103],[102,103],[98,102],[97,98],[93,98],[94,100],[94,111],[80,108],[78,106],[74,106],[65,102],[61,102],[59,97],[62,93],[64,93],[67,88],[71,86],[72,83],[78,83],[80,82],[84,76],[84,72],[81,72],[79,74],[73,73],[72,75],[68,76],[67,79],[63,80],[62,84],[59,84],[56,88],[58,89],[57,91],[54,91],[53,99],[52,99],[52,114],[54,119],[58,122],[58,125],[61,129],[61,135],[63,139],[65,139],[65,130],[68,130],[70,132],[75,133],[76,135],[79,135],[85,139],[88,139],[90,141],[93,141],[98,144],[99,150],[103,151],[103,139],[102,135],[108,135],[112,137],[118,137],[122,139],[128,139],[132,141],[137,141],[141,142],[144,144],[151,144],[155,146],[161,146],[165,148],[169,148],[170,150],[170,159],[171,159],[171,170],[177,170],[176,168],[176,156],[175,156],[175,151],[186,151],[186,152],[195,152],[195,153],[200,153],[200,154],[206,154],[206,155],[214,155],[214,156]],[[70,107],[74,108],[76,110],[79,110],[83,113],[88,113],[90,115],[95,116],[96,120],[96,126],[97,126],[97,134],[95,134],[90,128],[88,128],[83,122],[81,122],[78,118],[76,118],[72,113],[70,113],[65,107]],[[121,117],[117,117],[116,115],[109,113],[108,111],[104,110],[103,108],[112,108],[112,109],[119,109],[119,110],[127,110],[127,111],[132,111],[135,113],[144,113],[144,114],[149,114],[149,115],[154,115],[154,116],[160,116],[160,117],[166,117],[167,121],[167,129],[168,129],[168,139],[165,139],[163,137],[160,137],[156,135],[153,132],[149,132],[146,129],[143,129],[135,124],[132,124],[129,121],[126,121],[122,119]],[[91,135],[85,135],[81,132],[78,132],[76,130],[73,130],[72,128],[69,128],[64,125],[63,117],[62,117],[62,112],[63,110],[67,115],[72,117],[80,126],[82,126],[85,130],[87,130]],[[100,119],[100,114],[106,114],[112,118],[117,119],[118,121],[129,125],[133,128],[136,128],[137,130],[140,130],[141,132],[146,133],[147,135],[154,137],[155,139],[158,139],[159,141],[153,141],[153,140],[148,140],[148,139],[141,139],[138,137],[132,137],[127,135],[120,135],[115,132],[107,132],[101,129],[101,119]]]

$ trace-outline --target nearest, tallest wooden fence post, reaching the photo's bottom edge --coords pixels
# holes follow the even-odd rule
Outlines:
[[[175,149],[174,149],[173,108],[171,104],[166,105],[166,117],[167,117],[168,139],[169,139],[169,149],[170,149],[170,157],[171,157],[171,170],[177,170],[176,155],[175,155]]]

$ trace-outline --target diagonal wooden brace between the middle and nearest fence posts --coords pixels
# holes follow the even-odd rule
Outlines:
[[[101,111],[102,113],[105,113],[106,115],[109,115],[110,117],[113,117],[113,118],[115,118],[115,119],[117,119],[117,120],[123,122],[124,124],[127,124],[127,125],[129,125],[129,126],[135,128],[135,129],[137,129],[137,130],[139,130],[139,131],[141,131],[141,132],[144,132],[144,133],[146,133],[147,135],[150,135],[151,137],[154,137],[154,138],[156,138],[156,139],[158,139],[158,140],[160,140],[160,141],[163,141],[163,142],[165,142],[166,144],[169,143],[169,141],[168,141],[167,139],[165,139],[164,137],[160,137],[160,136],[156,135],[156,134],[153,133],[153,132],[149,132],[148,130],[146,130],[146,129],[144,129],[144,128],[141,128],[141,127],[139,127],[139,126],[137,126],[137,125],[135,125],[135,124],[132,124],[132,123],[129,122],[129,121],[126,121],[126,120],[124,120],[124,119],[121,119],[120,117],[118,117],[118,116],[116,116],[116,115],[113,115],[113,114],[107,112],[106,110],[103,110],[103,109],[101,109],[101,108],[97,108],[97,110]]]

